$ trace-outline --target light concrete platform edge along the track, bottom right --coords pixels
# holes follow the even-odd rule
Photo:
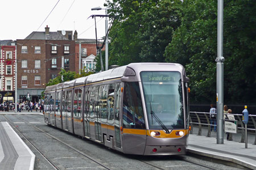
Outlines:
[[[214,159],[220,159],[220,160],[225,160],[225,161],[228,161],[228,162],[233,162],[233,163],[236,163],[236,164],[239,164],[239,165],[242,165],[243,167],[247,167],[247,168],[250,168],[250,169],[256,169],[256,165],[254,164],[250,164],[248,162],[245,162],[243,160],[240,160],[238,158],[232,158],[226,154],[218,154],[217,152],[209,152],[207,150],[205,151],[202,151],[202,150],[197,150],[196,148],[187,148],[187,152],[190,152],[192,154],[197,154],[197,155],[201,155],[201,156],[207,156],[209,158],[214,158]]]

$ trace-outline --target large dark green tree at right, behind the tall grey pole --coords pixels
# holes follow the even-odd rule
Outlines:
[[[224,101],[255,103],[255,3],[224,2]],[[217,1],[183,2],[182,22],[164,56],[183,64],[195,103],[216,101]]]

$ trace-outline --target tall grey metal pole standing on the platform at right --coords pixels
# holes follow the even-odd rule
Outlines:
[[[217,25],[217,144],[224,144],[224,61],[223,57],[223,6],[224,0],[218,0],[218,25]]]

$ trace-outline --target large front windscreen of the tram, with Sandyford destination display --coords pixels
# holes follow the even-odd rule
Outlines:
[[[141,79],[149,128],[184,129],[181,74],[142,71]]]

